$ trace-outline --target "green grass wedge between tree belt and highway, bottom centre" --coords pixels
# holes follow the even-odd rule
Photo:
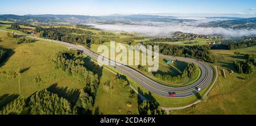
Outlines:
[[[108,70],[103,70],[100,80],[100,86],[97,90],[96,102],[94,105],[94,114],[138,114],[138,99],[129,99],[130,91],[123,88],[122,85],[115,82],[115,74]],[[104,86],[109,83],[110,88]],[[132,105],[127,106],[130,102]]]

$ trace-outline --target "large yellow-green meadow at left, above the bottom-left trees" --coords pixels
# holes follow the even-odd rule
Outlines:
[[[30,96],[36,91],[56,85],[68,90],[82,89],[84,82],[55,69],[51,60],[59,51],[67,49],[62,45],[46,41],[15,44],[15,39],[0,32],[0,46],[11,49],[0,67],[0,96],[4,94],[21,94]],[[21,70],[22,72],[18,72]]]

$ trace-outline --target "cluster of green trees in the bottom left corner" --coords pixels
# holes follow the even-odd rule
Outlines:
[[[0,114],[71,115],[75,113],[72,112],[72,107],[68,100],[43,89],[27,99],[19,96],[13,102],[7,104],[0,111]]]

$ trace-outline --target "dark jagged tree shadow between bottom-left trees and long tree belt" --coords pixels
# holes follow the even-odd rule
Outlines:
[[[69,90],[68,87],[58,87],[57,83],[49,86],[47,90],[53,94],[57,94],[60,97],[67,99],[71,104],[76,104],[80,95],[79,89]]]

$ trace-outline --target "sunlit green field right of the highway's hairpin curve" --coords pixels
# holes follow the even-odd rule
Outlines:
[[[218,82],[210,91],[207,102],[199,103],[184,110],[171,111],[171,114],[256,114],[256,79],[253,74],[229,74],[234,68],[234,60],[244,60],[234,52],[254,53],[256,47],[236,49],[234,51],[213,51],[218,57]],[[225,69],[226,78],[222,73]]]

